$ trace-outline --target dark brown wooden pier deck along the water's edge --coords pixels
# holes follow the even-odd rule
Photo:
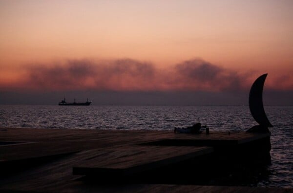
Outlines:
[[[207,186],[177,183],[176,179],[159,180],[161,168],[166,168],[161,172],[169,174],[173,172],[169,167],[177,163],[205,161],[217,146],[245,145],[268,137],[269,134],[245,132],[211,131],[206,135],[175,134],[169,130],[1,128],[0,192],[292,192],[292,189],[281,188]],[[100,182],[111,176],[133,175],[135,178],[140,172],[148,171],[158,174],[157,178],[148,177],[158,181],[129,178],[130,181],[120,183]],[[84,175],[90,176],[90,180]]]

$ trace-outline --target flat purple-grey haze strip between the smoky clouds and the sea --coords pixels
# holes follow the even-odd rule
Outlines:
[[[6,105],[58,105],[63,97],[67,102],[92,101],[91,105],[236,105],[248,106],[246,92],[199,91],[67,91],[67,92],[5,92],[0,94],[0,104]],[[293,92],[264,91],[265,106],[293,106]]]

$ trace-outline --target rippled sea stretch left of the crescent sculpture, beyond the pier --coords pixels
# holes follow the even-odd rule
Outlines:
[[[215,130],[243,130],[255,124],[248,107],[0,107],[1,127],[161,130],[201,122]]]

